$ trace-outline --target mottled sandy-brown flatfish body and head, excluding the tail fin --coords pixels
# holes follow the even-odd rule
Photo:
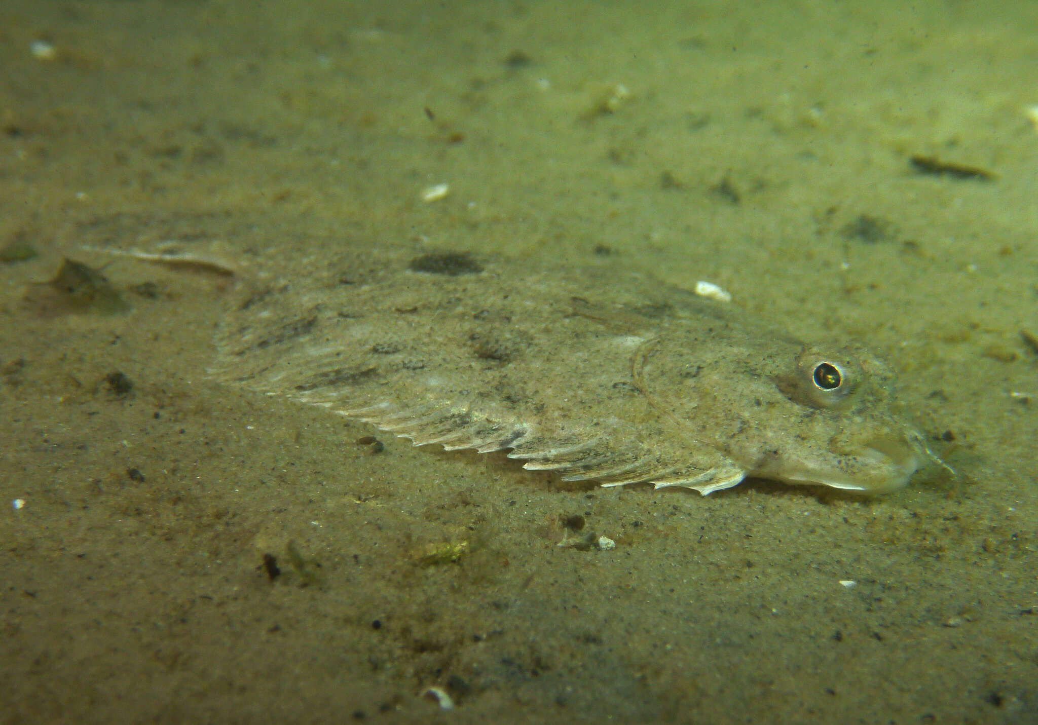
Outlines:
[[[732,304],[608,268],[308,251],[245,283],[219,380],[603,485],[706,495],[759,476],[876,494],[929,455],[891,413],[882,363]]]

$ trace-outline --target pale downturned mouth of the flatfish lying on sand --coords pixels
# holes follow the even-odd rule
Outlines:
[[[886,494],[907,485],[927,457],[934,458],[922,437],[911,430],[882,433],[838,456],[839,465],[810,466],[777,477],[788,483],[826,485],[866,495]]]

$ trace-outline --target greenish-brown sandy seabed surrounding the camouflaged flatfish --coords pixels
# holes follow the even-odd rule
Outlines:
[[[1035,28],[1027,2],[6,0],[0,723],[1038,722]],[[207,380],[233,278],[84,249],[316,239],[711,280],[883,355],[959,479],[704,499],[375,453]],[[42,307],[63,257],[132,309]],[[618,548],[556,546],[591,531]]]

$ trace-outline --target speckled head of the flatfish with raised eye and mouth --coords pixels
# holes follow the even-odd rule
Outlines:
[[[706,355],[673,418],[746,477],[869,495],[940,463],[898,417],[893,370],[865,351],[772,339]]]

